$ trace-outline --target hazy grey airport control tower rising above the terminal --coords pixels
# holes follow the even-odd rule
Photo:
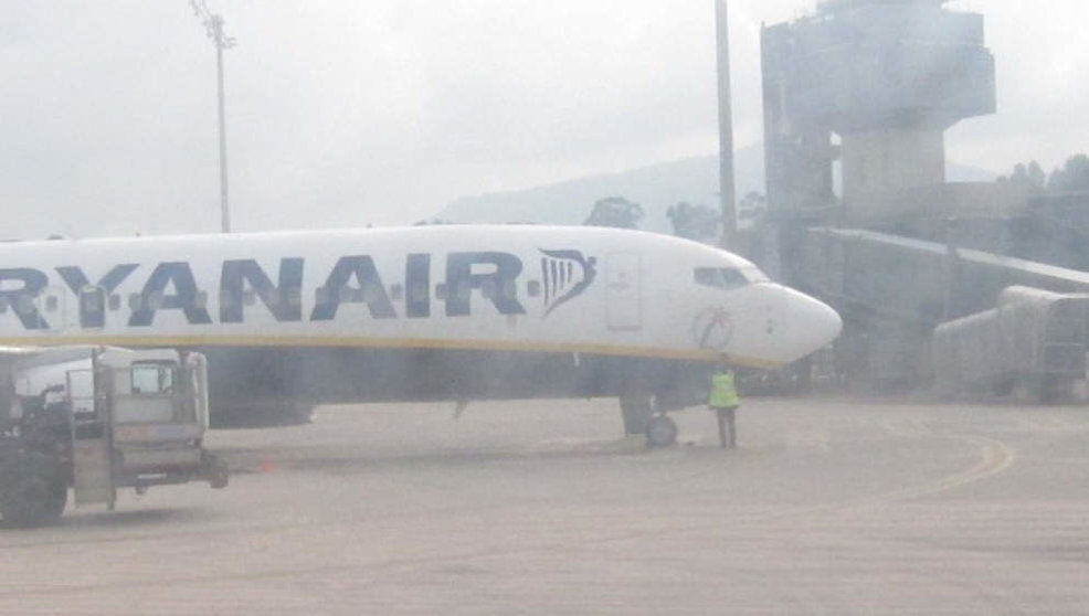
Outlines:
[[[995,72],[983,15],[945,3],[825,0],[813,15],[764,28],[768,200],[780,220],[869,226],[919,203],[903,191],[947,194],[937,188],[944,131],[994,113]]]

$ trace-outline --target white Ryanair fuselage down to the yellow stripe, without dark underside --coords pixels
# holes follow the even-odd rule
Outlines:
[[[611,229],[0,244],[6,344],[725,353],[772,368],[828,343],[839,328],[831,308],[768,282],[736,255]]]

